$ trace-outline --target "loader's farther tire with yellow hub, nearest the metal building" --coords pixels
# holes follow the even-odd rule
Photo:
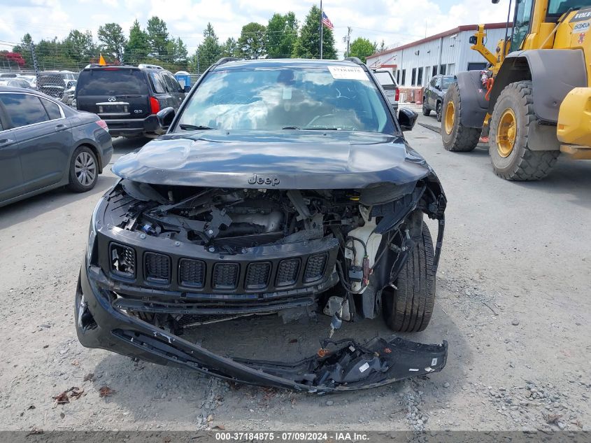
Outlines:
[[[450,108],[451,107],[451,108]],[[449,112],[449,113],[448,113]],[[443,99],[441,139],[443,147],[453,152],[469,152],[476,148],[481,128],[462,125],[462,99],[457,82],[452,83]]]

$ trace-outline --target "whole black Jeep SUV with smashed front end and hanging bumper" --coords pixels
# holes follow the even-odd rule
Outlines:
[[[402,134],[416,113],[397,120],[364,64],[221,59],[158,118],[167,133],[116,162],[121,179],[92,214],[76,291],[84,346],[309,392],[443,369],[445,341],[332,338],[382,317],[424,330],[443,239],[443,189]],[[271,314],[323,321],[318,353],[229,358],[187,337]]]

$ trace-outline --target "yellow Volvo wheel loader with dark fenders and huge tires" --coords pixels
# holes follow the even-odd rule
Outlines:
[[[517,0],[508,17],[494,54],[483,25],[471,36],[489,69],[457,73],[441,138],[446,150],[470,151],[488,136],[495,174],[539,180],[561,152],[591,160],[591,0]]]

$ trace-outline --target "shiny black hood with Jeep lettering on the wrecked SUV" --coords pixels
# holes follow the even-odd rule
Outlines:
[[[291,129],[166,134],[112,170],[142,183],[275,189],[365,188],[432,173],[402,136]]]

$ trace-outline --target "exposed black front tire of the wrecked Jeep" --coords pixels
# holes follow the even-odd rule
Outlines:
[[[422,225],[421,239],[408,256],[394,286],[382,291],[386,324],[396,332],[425,330],[435,302],[433,241],[427,225]]]

